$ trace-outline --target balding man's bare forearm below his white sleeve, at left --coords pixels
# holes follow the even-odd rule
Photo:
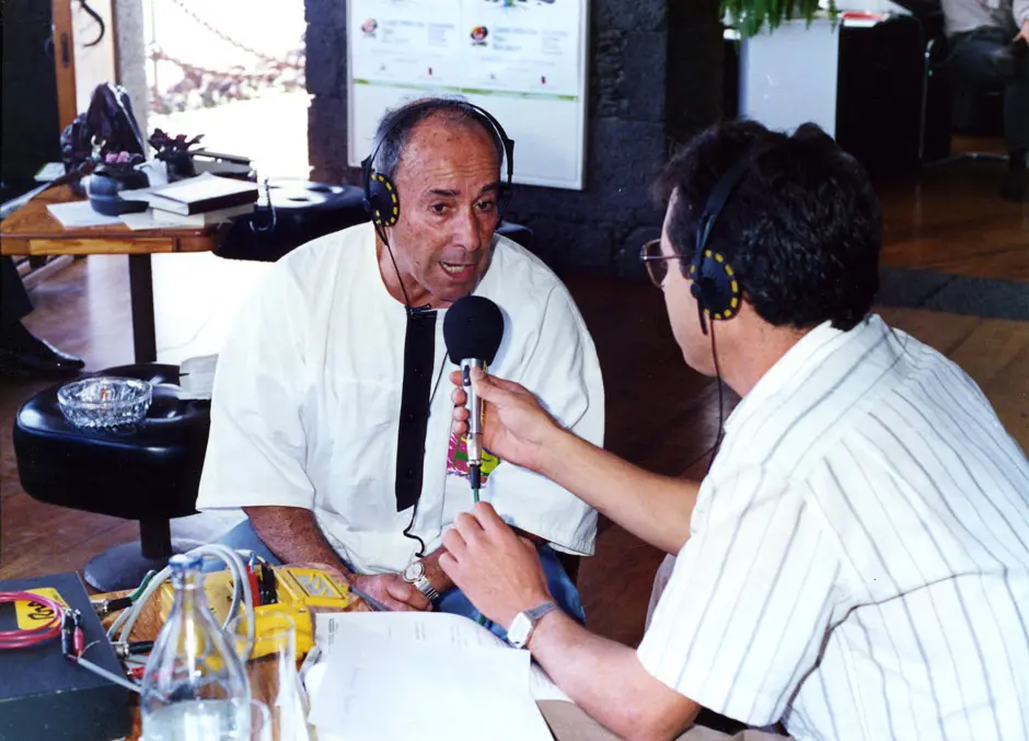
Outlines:
[[[350,576],[322,534],[314,513],[300,507],[244,507],[257,536],[285,564],[327,564]]]

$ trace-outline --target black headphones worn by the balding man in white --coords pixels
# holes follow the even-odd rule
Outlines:
[[[396,223],[401,216],[401,200],[393,182],[382,173],[372,171],[372,162],[375,161],[375,157],[379,154],[382,143],[401,124],[406,123],[412,117],[418,117],[436,108],[440,111],[460,109],[470,113],[484,124],[488,124],[488,128],[496,136],[497,143],[500,144],[504,151],[504,158],[507,161],[507,182],[500,184],[500,193],[497,198],[497,223],[499,224],[500,220],[504,218],[504,209],[511,195],[511,178],[514,175],[514,140],[507,136],[504,127],[500,126],[500,121],[494,118],[485,108],[481,108],[467,101],[437,97],[411,103],[395,112],[393,114],[393,123],[379,135],[372,146],[371,154],[361,162],[361,180],[365,184],[365,208],[369,215],[371,215],[372,221],[375,223],[377,228],[392,227]]]

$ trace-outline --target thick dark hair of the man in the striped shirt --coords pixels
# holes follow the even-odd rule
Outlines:
[[[750,161],[710,233],[708,247],[732,265],[744,299],[776,326],[829,320],[851,329],[879,290],[881,215],[853,157],[814,124],[793,136],[752,120],[727,120],[694,138],[657,182],[672,199],[668,236],[689,270],[697,221],[719,177]]]

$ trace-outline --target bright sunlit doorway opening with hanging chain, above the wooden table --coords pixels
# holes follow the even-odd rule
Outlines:
[[[148,128],[309,174],[303,0],[144,0]]]

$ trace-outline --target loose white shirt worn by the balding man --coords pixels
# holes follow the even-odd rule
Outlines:
[[[562,422],[602,444],[600,367],[564,285],[498,235],[475,293],[505,314],[490,371],[522,383]],[[447,358],[444,314],[436,321],[435,391],[412,530],[427,553],[473,503],[466,464],[451,444],[455,366]],[[219,355],[198,509],[305,508],[355,569],[395,572],[411,563],[418,544],[403,531],[412,510],[397,512],[395,498],[406,326],[404,305],[382,282],[370,223],[279,260]],[[597,512],[581,500],[510,463],[484,479],[483,500],[510,524],[558,549],[593,553]]]

